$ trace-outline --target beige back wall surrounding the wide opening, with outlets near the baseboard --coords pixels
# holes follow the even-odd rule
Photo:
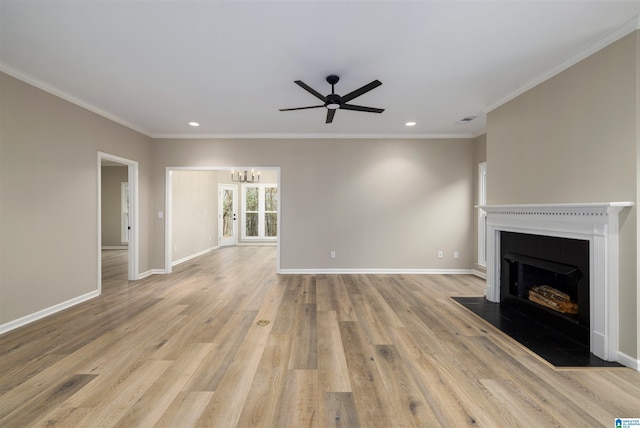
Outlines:
[[[163,207],[167,166],[281,167],[282,269],[468,269],[473,263],[471,139],[153,144],[156,210]],[[154,235],[160,268],[161,220]],[[445,258],[437,258],[438,250]]]

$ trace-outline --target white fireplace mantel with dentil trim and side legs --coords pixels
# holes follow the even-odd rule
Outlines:
[[[618,354],[618,215],[633,202],[479,206],[487,213],[486,297],[500,302],[500,232],[589,241],[591,353]]]

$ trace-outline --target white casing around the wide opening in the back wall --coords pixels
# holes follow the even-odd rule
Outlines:
[[[276,171],[278,174],[278,236],[277,236],[277,241],[276,241],[276,272],[280,273],[280,253],[281,253],[281,247],[280,247],[280,238],[282,236],[282,219],[284,218],[282,215],[282,195],[281,195],[281,190],[282,189],[282,183],[281,183],[281,170],[279,166],[250,166],[250,167],[246,167],[246,166],[189,166],[189,167],[179,167],[179,166],[167,166],[165,168],[165,198],[164,198],[164,213],[159,212],[158,213],[158,217],[159,218],[163,218],[164,217],[164,273],[165,274],[169,274],[173,271],[173,266],[171,263],[171,246],[172,246],[172,239],[171,239],[171,234],[172,234],[172,227],[171,227],[171,220],[172,220],[172,203],[173,203],[173,196],[172,196],[172,173],[173,171],[229,171],[231,172],[232,170],[235,171],[239,171],[239,170],[272,170],[272,171]]]

